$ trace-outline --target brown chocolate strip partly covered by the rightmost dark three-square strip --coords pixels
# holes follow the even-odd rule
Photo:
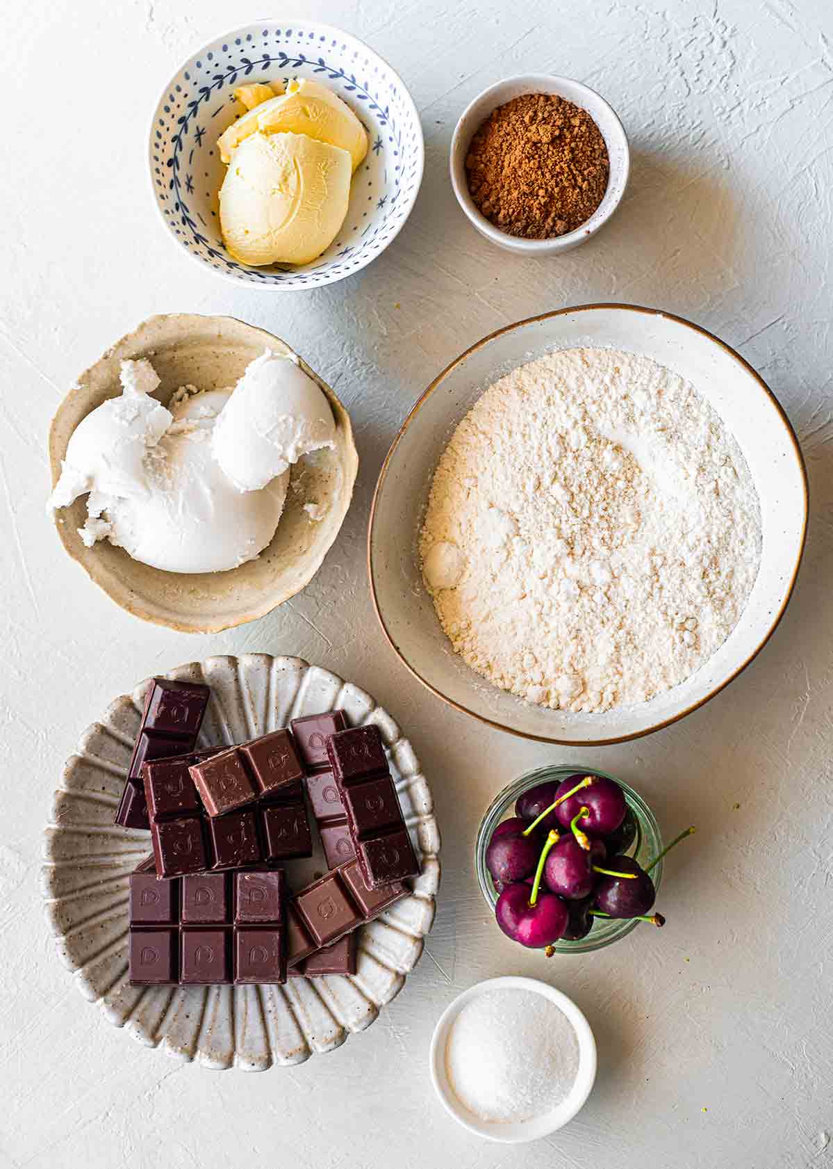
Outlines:
[[[298,754],[307,773],[306,794],[329,869],[335,869],[355,856],[347,826],[347,812],[327,759],[328,735],[343,731],[346,726],[343,711],[307,714],[290,722]]]

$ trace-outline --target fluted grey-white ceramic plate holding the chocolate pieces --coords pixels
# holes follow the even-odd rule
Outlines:
[[[117,698],[81,736],[54,795],[46,828],[43,897],[61,960],[78,990],[140,1043],[214,1068],[263,1071],[332,1051],[368,1028],[404,985],[431,928],[439,886],[439,831],[431,790],[411,745],[374,699],[300,658],[247,653],[192,662],[166,675],[204,682],[211,699],[200,745],[234,743],[301,714],[341,708],[350,725],[382,733],[402,810],[422,860],[414,892],[359,934],[355,975],[291,978],[278,987],[131,987],[127,881],[150,851],[150,833],[125,831],[113,815],[150,685]],[[320,855],[293,862],[304,883]]]

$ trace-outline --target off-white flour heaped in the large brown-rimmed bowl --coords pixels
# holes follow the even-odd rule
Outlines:
[[[419,539],[457,653],[527,701],[606,711],[689,677],[761,560],[735,438],[650,358],[562,350],[491,386],[435,472]]]

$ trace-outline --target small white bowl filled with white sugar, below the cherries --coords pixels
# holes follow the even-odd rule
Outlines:
[[[479,982],[443,1012],[431,1079],[446,1112],[490,1141],[521,1144],[572,1120],[596,1079],[596,1040],[579,1009],[536,978]]]

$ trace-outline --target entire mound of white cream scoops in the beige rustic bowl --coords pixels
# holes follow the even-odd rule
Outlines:
[[[110,540],[134,560],[176,573],[224,572],[271,541],[290,464],[333,447],[327,399],[290,358],[266,351],[234,389],[178,390],[169,409],[147,361],[124,361],[120,397],[86,415],[67,445],[49,499],[89,492],[88,547]]]

